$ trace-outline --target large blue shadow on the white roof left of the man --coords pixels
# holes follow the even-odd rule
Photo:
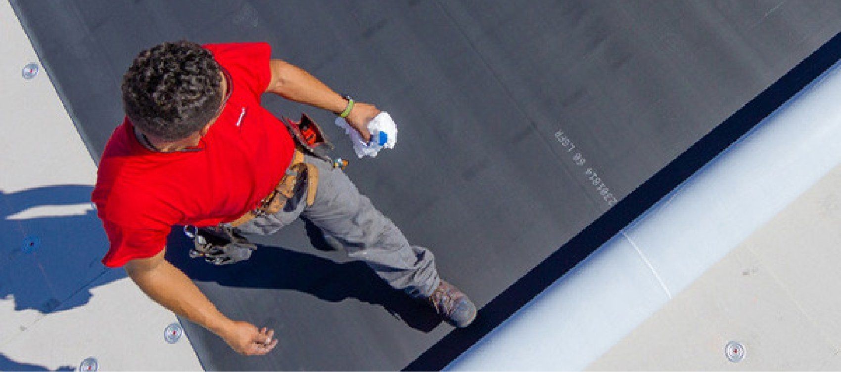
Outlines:
[[[82,307],[93,287],[125,276],[100,262],[108,245],[96,211],[86,207],[91,191],[87,185],[0,191],[0,299],[13,297],[15,312]]]

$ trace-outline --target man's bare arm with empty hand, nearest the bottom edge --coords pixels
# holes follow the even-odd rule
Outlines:
[[[164,259],[167,249],[148,259],[132,259],[125,271],[146,296],[176,314],[200,324],[225,339],[237,353],[262,355],[278,344],[274,330],[225,317],[193,281]],[[272,341],[269,341],[272,340]]]

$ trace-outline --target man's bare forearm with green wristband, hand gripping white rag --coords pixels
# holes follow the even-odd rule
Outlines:
[[[304,71],[283,60],[271,60],[272,81],[266,92],[272,92],[290,101],[304,103],[309,106],[323,108],[333,113],[341,113],[347,107],[347,101],[338,93]],[[347,123],[356,128],[362,139],[371,139],[368,132],[368,122],[377,116],[379,110],[372,104],[356,102],[351,113],[347,115]]]

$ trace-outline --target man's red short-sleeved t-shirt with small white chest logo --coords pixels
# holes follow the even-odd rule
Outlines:
[[[265,43],[204,45],[230,74],[230,97],[194,152],[157,153],[124,119],[99,163],[93,202],[111,247],[108,267],[161,252],[173,225],[214,226],[257,207],[286,171],[294,142],[260,106],[271,71]]]

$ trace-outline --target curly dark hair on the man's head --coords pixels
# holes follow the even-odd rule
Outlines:
[[[222,102],[220,65],[193,42],[156,45],[123,76],[125,114],[145,134],[185,139],[209,123]]]

